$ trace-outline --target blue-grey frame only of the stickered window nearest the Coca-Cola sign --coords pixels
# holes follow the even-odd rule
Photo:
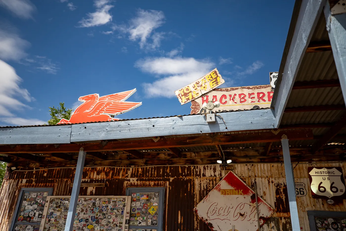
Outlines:
[[[161,205],[158,206],[159,213],[157,215],[157,226],[153,225],[129,225],[129,229],[156,229],[157,231],[163,230],[163,213],[165,204],[165,187],[127,187],[126,196],[131,196],[132,193],[159,193],[159,202],[162,201]],[[131,197],[132,202],[132,197]]]

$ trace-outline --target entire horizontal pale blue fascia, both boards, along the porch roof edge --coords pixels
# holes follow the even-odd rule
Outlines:
[[[206,115],[184,115],[65,126],[2,128],[0,144],[68,144],[90,140],[261,130],[274,126],[274,110],[258,109],[217,113],[215,123],[207,123]]]

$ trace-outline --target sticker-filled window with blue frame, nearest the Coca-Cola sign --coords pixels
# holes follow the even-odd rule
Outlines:
[[[129,231],[161,231],[164,188],[127,188],[126,195],[131,196]]]

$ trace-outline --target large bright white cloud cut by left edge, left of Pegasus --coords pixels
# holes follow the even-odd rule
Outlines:
[[[12,116],[10,110],[18,110],[27,107],[16,98],[23,97],[30,102],[33,98],[27,89],[20,88],[22,79],[16,74],[13,67],[0,60],[0,115]]]

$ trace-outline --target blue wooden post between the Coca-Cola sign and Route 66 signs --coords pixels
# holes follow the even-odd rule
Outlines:
[[[288,139],[286,135],[282,136],[281,144],[282,144],[283,161],[285,164],[286,186],[287,186],[288,201],[290,205],[292,231],[300,231],[297,201],[295,200],[294,175],[293,175],[293,169],[291,164],[290,149],[289,149]]]

